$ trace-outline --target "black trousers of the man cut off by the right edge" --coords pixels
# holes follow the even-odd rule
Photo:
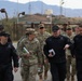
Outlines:
[[[82,81],[82,59],[77,59],[77,78],[78,81]]]

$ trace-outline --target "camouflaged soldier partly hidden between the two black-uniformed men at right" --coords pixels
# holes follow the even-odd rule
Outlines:
[[[72,32],[71,28],[67,28],[66,30],[66,37],[70,39],[71,42],[74,33]],[[76,58],[72,57],[70,50],[66,50],[66,57],[67,57],[67,81],[70,81],[70,76],[71,76],[71,81],[74,81],[74,75],[76,75]],[[71,65],[71,72],[70,72],[70,65]]]

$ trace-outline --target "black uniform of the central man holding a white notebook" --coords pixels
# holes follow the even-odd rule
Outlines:
[[[64,36],[57,38],[51,36],[45,40],[44,54],[49,58],[51,65],[52,81],[65,81],[66,78],[66,55],[65,45],[71,44],[70,40]],[[49,57],[49,50],[53,49],[55,55]]]

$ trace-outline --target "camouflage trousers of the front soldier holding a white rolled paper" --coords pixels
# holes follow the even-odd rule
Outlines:
[[[22,66],[20,69],[23,81],[36,81],[37,72],[38,72],[38,65]]]

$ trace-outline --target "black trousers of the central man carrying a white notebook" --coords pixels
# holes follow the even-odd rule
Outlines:
[[[50,63],[52,81],[65,81],[66,78],[66,62]]]

